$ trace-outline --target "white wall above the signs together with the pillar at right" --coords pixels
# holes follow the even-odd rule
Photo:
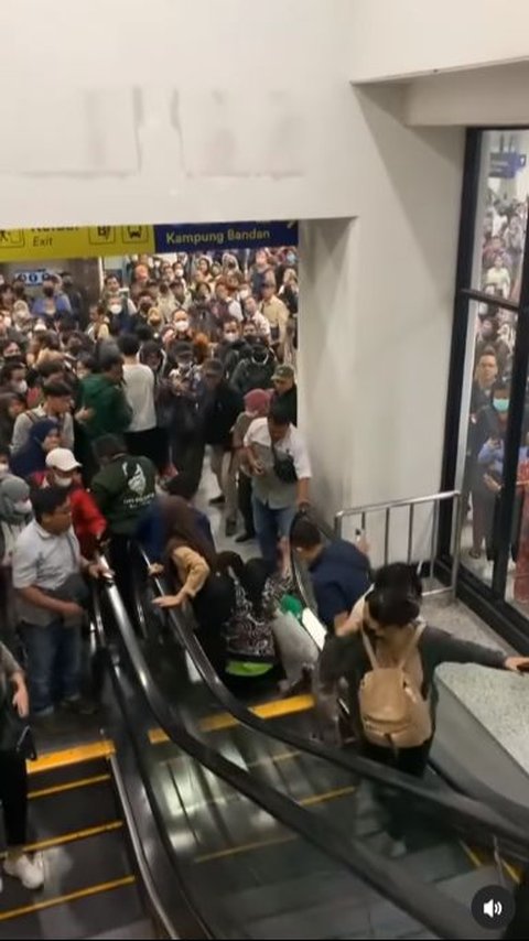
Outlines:
[[[302,412],[333,509],[439,486],[462,177],[460,131],[407,129],[401,90],[352,88],[360,13],[0,4],[2,227],[320,220],[302,226]],[[401,40],[418,54],[391,24],[359,65]]]

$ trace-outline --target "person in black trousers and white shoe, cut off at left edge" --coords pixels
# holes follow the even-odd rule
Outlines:
[[[28,771],[21,743],[22,723],[30,712],[30,700],[22,668],[8,648],[0,643],[0,800],[8,842],[3,872],[20,879],[24,888],[37,889],[44,881],[42,866],[24,853],[28,843]],[[1,889],[1,879],[0,879]]]

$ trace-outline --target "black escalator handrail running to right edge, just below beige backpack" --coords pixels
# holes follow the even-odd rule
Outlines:
[[[142,547],[136,544],[136,549],[143,559],[144,564],[149,566],[150,562]],[[151,576],[151,581],[160,595],[168,594],[161,578]],[[271,729],[266,720],[250,712],[223,683],[196,637],[193,625],[185,617],[182,609],[168,609],[166,614],[176,640],[190,655],[209,691],[218,700],[223,709],[237,718],[241,725],[253,728],[268,738],[290,745],[299,751],[322,758],[335,767],[350,771],[352,775],[359,776],[374,783],[389,786],[409,794],[411,798],[419,798],[422,803],[428,804],[436,814],[449,813],[453,823],[455,823],[455,820],[458,820],[466,828],[468,828],[469,823],[474,823],[479,829],[486,829],[496,837],[499,836],[505,840],[509,850],[515,855],[521,855],[523,858],[527,857],[529,852],[529,834],[526,828],[520,828],[519,821],[510,821],[486,804],[455,791],[435,790],[417,778],[412,778],[393,768],[382,767],[368,758],[345,754],[313,739],[303,738],[303,736],[290,729]],[[518,811],[518,804],[514,807]],[[523,808],[520,808],[520,810],[523,810]]]

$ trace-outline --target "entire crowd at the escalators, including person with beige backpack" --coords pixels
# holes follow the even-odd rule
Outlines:
[[[374,576],[367,545],[322,540],[298,429],[293,249],[140,257],[127,278],[107,274],[91,304],[67,275],[50,273],[32,299],[20,282],[0,288],[0,798],[4,872],[28,888],[43,873],[24,852],[17,722],[31,712],[35,727],[53,733],[62,716],[96,709],[84,685],[83,627],[89,580],[107,571],[101,550],[133,615],[129,548],[143,545],[150,575],[168,585],[153,604],[193,613],[225,678],[279,667],[289,692],[309,671],[320,735],[333,744],[342,740],[337,685],[346,679],[364,753],[409,774],[425,767],[441,662],[527,668],[425,628],[408,566]],[[501,350],[498,339],[494,363]],[[479,376],[483,389],[494,385],[488,408],[501,415],[487,357],[488,344]],[[505,385],[503,392],[505,400]],[[257,539],[260,554],[247,562],[215,544],[195,506],[206,453],[225,537]],[[321,656],[292,631],[291,548],[327,630]]]

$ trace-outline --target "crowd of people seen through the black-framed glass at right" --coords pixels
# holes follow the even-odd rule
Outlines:
[[[498,549],[497,522],[517,329],[516,313],[503,307],[501,301],[519,300],[527,212],[527,202],[501,201],[489,192],[481,286],[494,300],[478,307],[464,484],[466,510],[472,508],[469,556],[477,565],[484,552],[487,560],[494,561]],[[514,596],[520,604],[529,603],[529,398],[527,405],[510,537]]]

